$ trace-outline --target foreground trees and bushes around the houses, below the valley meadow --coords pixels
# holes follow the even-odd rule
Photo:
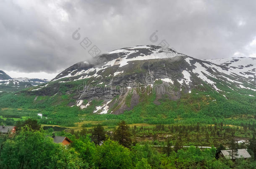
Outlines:
[[[66,136],[73,142],[65,147],[55,144],[52,139],[53,129],[43,130],[36,120],[17,121],[16,134],[0,135],[0,168],[2,169],[229,169],[256,168],[256,161],[236,159],[235,161],[217,156],[222,149],[230,146],[248,148],[253,157],[256,149],[255,135],[249,144],[236,144],[235,128],[227,128],[219,124],[212,129],[200,126],[170,126],[177,136],[167,137],[161,143],[140,141],[135,138],[147,133],[143,127],[130,127],[121,121],[113,132],[107,132],[100,124],[81,131],[57,131],[56,135]],[[184,129],[185,127],[185,129]],[[201,134],[204,131],[224,129],[228,140],[227,146],[219,144],[216,148],[200,149],[196,146],[183,147],[189,129]],[[167,131],[164,125],[152,129],[155,133]],[[227,131],[226,131],[227,130]],[[238,129],[239,130],[239,129]],[[229,134],[231,133],[231,134]],[[254,128],[255,134],[255,128]],[[156,137],[156,136],[153,136]],[[202,139],[200,138],[196,139]],[[206,136],[213,139],[212,134]],[[157,146],[158,145],[158,146]],[[255,154],[254,154],[255,155]]]

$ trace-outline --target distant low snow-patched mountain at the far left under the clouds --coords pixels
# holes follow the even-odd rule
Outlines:
[[[15,92],[31,86],[47,83],[46,79],[38,78],[11,78],[4,71],[0,71],[0,92]]]

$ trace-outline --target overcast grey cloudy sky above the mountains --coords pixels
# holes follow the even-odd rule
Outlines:
[[[255,7],[255,0],[1,0],[0,70],[50,79],[89,60],[93,45],[105,53],[161,40],[199,59],[256,57]]]

